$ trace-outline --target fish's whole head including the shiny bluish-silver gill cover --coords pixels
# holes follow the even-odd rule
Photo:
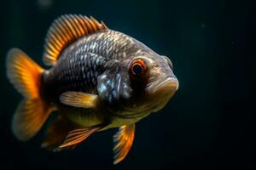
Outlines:
[[[146,53],[111,61],[98,77],[98,94],[111,111],[138,116],[159,111],[177,91],[172,61]]]

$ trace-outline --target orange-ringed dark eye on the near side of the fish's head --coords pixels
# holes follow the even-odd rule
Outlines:
[[[143,59],[135,59],[130,66],[130,71],[133,76],[141,76],[147,69],[148,67]]]

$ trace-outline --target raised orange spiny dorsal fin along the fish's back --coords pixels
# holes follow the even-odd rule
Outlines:
[[[55,65],[62,50],[68,44],[96,31],[108,29],[94,18],[81,14],[65,14],[54,21],[49,27],[44,44],[43,60],[45,65]]]

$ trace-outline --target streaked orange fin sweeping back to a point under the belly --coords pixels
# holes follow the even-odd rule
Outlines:
[[[79,144],[84,139],[87,139],[90,136],[90,134],[95,133],[101,128],[102,126],[84,127],[70,131],[67,134],[65,141],[63,142],[63,144],[59,146],[59,148],[65,148],[67,146],[72,146],[73,144]]]

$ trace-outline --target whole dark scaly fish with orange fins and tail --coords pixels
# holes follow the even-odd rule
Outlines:
[[[131,150],[135,124],[164,108],[179,85],[171,59],[81,14],[52,23],[43,61],[47,69],[20,48],[7,54],[7,77],[23,96],[11,123],[15,138],[32,139],[46,124],[42,147],[60,151],[118,128],[113,164]]]

